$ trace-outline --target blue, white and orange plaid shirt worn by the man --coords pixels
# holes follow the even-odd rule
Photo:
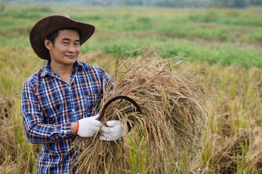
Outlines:
[[[26,80],[21,96],[23,127],[30,142],[42,144],[38,173],[70,172],[70,147],[76,137],[71,124],[97,113],[95,106],[108,83],[103,69],[81,62],[74,63],[70,85],[51,71],[50,61]]]

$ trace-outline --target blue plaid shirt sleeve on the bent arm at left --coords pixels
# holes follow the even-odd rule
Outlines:
[[[23,113],[23,128],[29,142],[60,142],[72,135],[71,122],[56,125],[42,123],[43,112],[41,111],[34,87],[28,80],[22,90],[21,109]]]

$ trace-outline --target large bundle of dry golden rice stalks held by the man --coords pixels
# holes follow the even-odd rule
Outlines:
[[[112,75],[115,87],[105,89],[100,105],[100,114],[107,106],[101,119],[103,124],[121,120],[124,136],[115,142],[99,140],[99,133],[93,138],[77,138],[73,144],[77,173],[130,173],[132,159],[127,155],[127,139],[131,142],[143,139],[146,172],[173,173],[179,153],[192,151],[194,142],[200,140],[201,129],[207,126],[203,85],[192,74],[173,72],[170,61],[176,58],[146,58],[146,52],[126,60],[127,55],[117,59]],[[108,105],[115,97],[119,99]],[[138,106],[123,100],[126,97]],[[127,134],[128,127],[135,133]]]

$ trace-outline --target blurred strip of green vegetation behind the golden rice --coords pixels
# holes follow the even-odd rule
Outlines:
[[[97,28],[82,53],[102,50],[117,57],[152,43],[165,57],[186,54],[196,61],[262,67],[260,11],[6,4],[0,13],[0,45],[30,47],[28,34],[35,22],[68,12]]]

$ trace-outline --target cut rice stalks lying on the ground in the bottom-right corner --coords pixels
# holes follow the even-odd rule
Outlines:
[[[262,172],[262,131],[260,127],[241,129],[233,137],[216,138],[216,142],[210,162],[214,173]]]

